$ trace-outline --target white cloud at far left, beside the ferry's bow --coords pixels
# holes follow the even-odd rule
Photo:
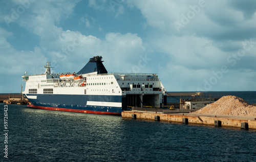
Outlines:
[[[4,77],[2,77],[4,80],[1,81],[0,92],[17,92],[20,84],[24,83],[21,76],[25,71],[29,74],[44,73],[41,67],[47,59],[38,47],[35,47],[34,51],[17,51],[2,36],[0,51],[0,75]]]

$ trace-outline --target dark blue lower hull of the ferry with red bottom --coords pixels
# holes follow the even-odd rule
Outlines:
[[[54,95],[54,94],[27,94],[36,96],[28,99],[31,107],[58,111],[72,111],[97,114],[121,114],[122,107],[87,105],[87,101],[122,103],[122,96],[104,95]]]

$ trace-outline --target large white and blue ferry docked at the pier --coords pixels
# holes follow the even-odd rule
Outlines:
[[[166,90],[157,74],[108,74],[101,56],[90,58],[77,73],[23,75],[30,107],[96,114],[121,114],[134,107],[166,106]]]

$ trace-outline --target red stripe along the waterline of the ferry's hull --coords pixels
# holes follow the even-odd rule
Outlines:
[[[33,108],[37,108],[37,109],[44,109],[44,110],[81,112],[81,113],[94,113],[94,114],[106,114],[106,115],[120,115],[121,114],[121,113],[115,113],[115,112],[89,111],[89,110],[78,110],[78,109],[56,108],[56,107],[44,107],[44,106],[35,106],[35,105],[28,105],[28,107],[33,107]]]

